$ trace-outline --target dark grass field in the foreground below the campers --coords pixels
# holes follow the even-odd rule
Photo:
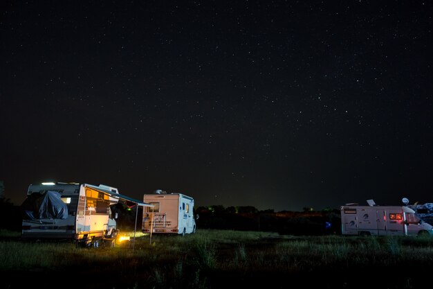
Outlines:
[[[115,247],[0,231],[1,288],[431,288],[433,238],[136,233]],[[129,233],[133,237],[133,232]]]

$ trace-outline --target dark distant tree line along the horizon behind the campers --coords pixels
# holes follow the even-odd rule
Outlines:
[[[118,203],[111,206],[118,213],[118,229],[141,231],[142,207]],[[137,211],[138,210],[138,211]],[[223,207],[212,205],[194,208],[197,229],[231,229],[239,231],[273,231],[288,235],[341,234],[340,210],[259,211],[252,206]],[[21,206],[0,198],[0,229],[21,231]]]

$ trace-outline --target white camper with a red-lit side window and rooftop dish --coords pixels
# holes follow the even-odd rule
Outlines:
[[[360,206],[340,208],[343,235],[416,236],[432,235],[433,227],[406,206]]]

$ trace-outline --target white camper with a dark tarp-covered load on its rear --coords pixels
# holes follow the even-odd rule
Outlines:
[[[22,238],[71,239],[98,246],[114,245],[118,234],[110,205],[118,203],[110,186],[56,183],[30,184],[22,205]],[[46,197],[50,197],[48,200]],[[42,198],[48,200],[41,205]]]

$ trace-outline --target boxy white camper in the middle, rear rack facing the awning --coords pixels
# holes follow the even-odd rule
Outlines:
[[[143,233],[179,235],[195,233],[193,198],[182,193],[154,193],[145,194],[143,201],[154,205],[143,209]]]

